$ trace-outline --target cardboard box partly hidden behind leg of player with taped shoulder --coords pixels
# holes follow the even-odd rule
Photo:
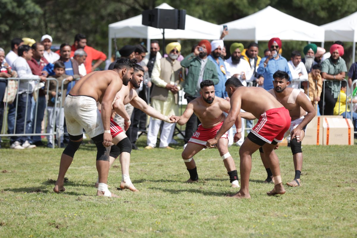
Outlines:
[[[312,118],[306,128],[302,145],[323,145],[323,121],[324,118],[342,118],[342,116],[316,116]]]

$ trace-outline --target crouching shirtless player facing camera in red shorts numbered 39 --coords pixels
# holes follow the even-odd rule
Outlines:
[[[227,100],[215,97],[213,81],[204,80],[201,82],[200,87],[201,97],[197,97],[195,100],[188,103],[185,112],[183,112],[177,120],[178,125],[183,125],[191,117],[192,113],[195,113],[201,121],[197,131],[193,133],[185,150],[182,152],[182,159],[185,162],[188,173],[190,173],[190,179],[186,181],[187,183],[198,181],[197,168],[193,156],[206,147],[206,141],[208,139],[211,139],[216,135],[225,120],[223,112],[228,112],[230,109],[230,104]],[[240,131],[234,136],[235,142],[241,138],[241,118],[239,115],[236,115],[236,118],[237,117],[239,118],[236,121],[236,126],[237,128],[240,128]],[[232,187],[238,188],[239,184],[236,166],[232,156],[228,152],[228,129],[218,137],[215,144],[217,144],[218,151],[220,152],[220,156],[227,169]]]

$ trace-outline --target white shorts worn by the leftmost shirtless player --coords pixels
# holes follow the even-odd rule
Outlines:
[[[67,95],[64,114],[67,131],[72,136],[82,135],[83,128],[90,138],[104,133],[97,102],[92,97]]]

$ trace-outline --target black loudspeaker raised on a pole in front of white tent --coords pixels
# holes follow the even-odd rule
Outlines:
[[[142,12],[142,25],[161,29],[185,30],[186,10],[159,9]]]

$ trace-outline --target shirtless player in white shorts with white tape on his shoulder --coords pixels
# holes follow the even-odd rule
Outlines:
[[[273,75],[274,88],[269,90],[271,93],[287,110],[291,117],[291,124],[284,137],[291,135],[290,148],[293,155],[295,178],[286,184],[291,187],[300,186],[300,174],[302,169],[302,150],[301,141],[305,136],[306,126],[316,115],[315,108],[311,101],[306,97],[305,93],[296,89],[287,87],[289,82],[289,75],[281,70],[278,70]],[[270,182],[270,168],[266,157],[263,155],[263,149],[259,148],[260,155],[264,167],[268,173],[267,182]]]

